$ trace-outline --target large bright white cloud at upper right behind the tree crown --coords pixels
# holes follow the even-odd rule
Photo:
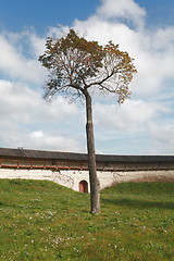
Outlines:
[[[119,8],[120,7],[120,8]],[[101,13],[105,13],[107,17]],[[133,0],[104,0],[98,12],[86,21],[76,20],[74,28],[80,34],[86,33],[88,39],[96,39],[104,45],[109,40],[120,45],[127,51],[138,73],[130,84],[134,95],[154,96],[165,89],[164,82],[171,77],[174,80],[174,27],[140,29],[128,26],[120,17],[129,17],[145,22],[145,10]],[[114,20],[109,20],[109,16]],[[138,17],[138,18],[137,18]]]

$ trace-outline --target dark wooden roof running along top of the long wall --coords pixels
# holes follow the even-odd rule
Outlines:
[[[0,148],[0,158],[87,161],[86,153]],[[174,156],[111,156],[97,154],[101,162],[174,162]]]

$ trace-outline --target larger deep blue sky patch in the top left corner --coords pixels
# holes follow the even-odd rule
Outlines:
[[[24,26],[34,26],[37,33],[44,34],[48,26],[71,25],[75,18],[87,18],[99,3],[99,0],[1,1],[1,26],[15,32]]]

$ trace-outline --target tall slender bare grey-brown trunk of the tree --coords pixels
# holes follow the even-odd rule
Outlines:
[[[100,212],[100,183],[96,172],[96,152],[95,152],[95,138],[94,138],[94,124],[92,124],[92,108],[91,97],[86,91],[86,135],[87,135],[87,149],[88,149],[88,167],[90,181],[90,207],[91,213]]]

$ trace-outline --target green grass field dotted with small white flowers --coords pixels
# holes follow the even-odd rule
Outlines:
[[[174,260],[174,183],[127,183],[89,195],[51,182],[0,179],[1,261]]]

